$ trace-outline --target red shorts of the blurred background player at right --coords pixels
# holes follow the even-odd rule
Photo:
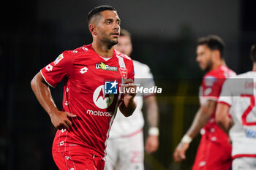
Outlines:
[[[192,170],[229,170],[231,150],[229,142],[213,142],[202,136]]]

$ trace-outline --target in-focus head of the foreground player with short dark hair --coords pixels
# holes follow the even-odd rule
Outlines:
[[[110,47],[118,43],[121,20],[115,8],[109,5],[95,7],[87,20],[94,41],[105,42]]]

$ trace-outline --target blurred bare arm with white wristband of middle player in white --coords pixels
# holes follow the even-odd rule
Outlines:
[[[149,126],[145,150],[147,153],[151,153],[157,151],[159,146],[159,109],[156,96],[147,96],[144,98],[144,103],[146,105],[146,113]]]

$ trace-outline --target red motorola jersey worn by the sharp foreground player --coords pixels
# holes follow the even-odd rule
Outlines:
[[[124,78],[134,80],[131,58],[114,50],[105,61],[92,45],[84,45],[59,55],[41,74],[52,87],[64,80],[63,111],[77,115],[69,117],[72,127],[68,131],[56,132],[53,152],[79,150],[104,157],[105,141],[121,101],[119,91],[105,93],[105,81],[118,82],[119,87]]]

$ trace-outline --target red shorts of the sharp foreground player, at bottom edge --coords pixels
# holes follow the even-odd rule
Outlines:
[[[60,170],[103,170],[105,161],[89,153],[53,152],[53,159]]]

